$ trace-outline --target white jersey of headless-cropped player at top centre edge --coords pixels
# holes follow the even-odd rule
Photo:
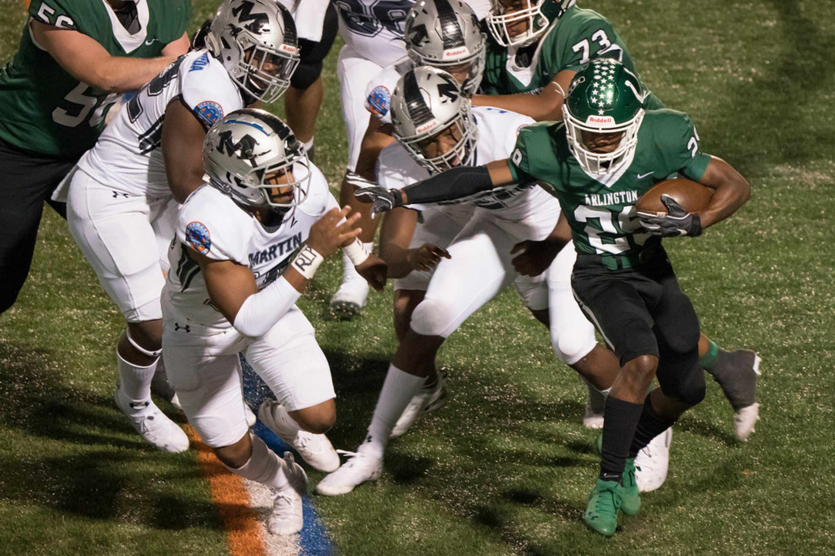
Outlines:
[[[385,68],[406,55],[403,23],[414,0],[331,2],[337,8],[342,40],[362,58]]]

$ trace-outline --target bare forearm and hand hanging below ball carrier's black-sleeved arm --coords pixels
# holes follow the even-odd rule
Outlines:
[[[403,278],[412,270],[432,270],[441,258],[450,258],[446,249],[432,243],[409,248],[417,227],[417,212],[395,208],[382,221],[380,257],[388,265],[388,278]]]

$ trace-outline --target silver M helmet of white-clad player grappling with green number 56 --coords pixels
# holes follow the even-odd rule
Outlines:
[[[299,65],[296,23],[276,0],[225,0],[205,44],[240,88],[265,103],[284,94]]]

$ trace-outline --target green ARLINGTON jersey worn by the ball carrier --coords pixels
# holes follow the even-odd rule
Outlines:
[[[663,108],[645,113],[633,154],[620,169],[592,177],[569,152],[563,123],[522,128],[509,160],[515,180],[553,188],[571,226],[577,253],[637,256],[653,236],[640,228],[635,203],[671,173],[701,179],[711,158],[686,113]]]

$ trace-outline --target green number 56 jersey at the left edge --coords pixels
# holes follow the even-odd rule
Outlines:
[[[130,34],[104,0],[32,0],[30,21],[73,29],[111,56],[154,58],[182,37],[189,0],[138,0],[139,30]],[[81,83],[23,30],[14,58],[0,70],[0,139],[33,153],[72,157],[92,148],[115,102],[110,93]]]

